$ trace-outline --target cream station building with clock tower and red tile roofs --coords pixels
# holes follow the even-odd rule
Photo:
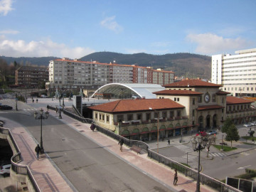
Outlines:
[[[235,124],[254,121],[256,110],[250,100],[227,95],[202,80],[182,80],[154,92],[157,99],[117,100],[90,107],[101,127],[129,139],[151,140],[218,129],[227,117]],[[159,123],[158,123],[159,121]]]

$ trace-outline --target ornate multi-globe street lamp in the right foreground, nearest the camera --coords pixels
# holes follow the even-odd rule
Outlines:
[[[200,135],[194,137],[194,139],[191,141],[193,144],[193,150],[198,151],[198,177],[197,177],[197,183],[196,183],[196,192],[200,192],[200,153],[203,149],[206,147],[207,139],[202,138]],[[203,146],[201,145],[203,144]]]

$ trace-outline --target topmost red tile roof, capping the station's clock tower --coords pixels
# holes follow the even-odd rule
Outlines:
[[[206,82],[203,80],[181,80],[168,85],[163,85],[163,87],[222,87],[223,85],[214,84],[211,82]]]

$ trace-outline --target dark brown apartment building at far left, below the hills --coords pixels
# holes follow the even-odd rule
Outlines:
[[[15,70],[15,84],[27,88],[41,88],[49,79],[46,67],[21,66]]]

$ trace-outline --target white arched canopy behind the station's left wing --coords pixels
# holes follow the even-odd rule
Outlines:
[[[137,84],[137,83],[110,83],[103,85],[96,90],[92,97],[96,95],[110,95],[113,99],[132,99],[146,98],[155,99],[156,95],[152,92],[164,90],[164,87],[156,84]]]

